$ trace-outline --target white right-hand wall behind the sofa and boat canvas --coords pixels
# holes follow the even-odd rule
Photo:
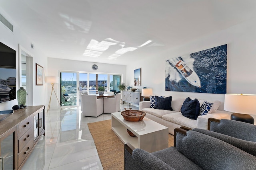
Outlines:
[[[200,37],[175,47],[147,61],[136,61],[127,66],[127,84],[134,87],[134,70],[141,68],[142,86],[153,88],[154,95],[190,97],[224,101],[224,94],[204,94],[165,91],[165,61],[174,57],[227,44],[227,93],[256,94],[256,19],[228,29]],[[220,109],[223,108],[220,106]]]

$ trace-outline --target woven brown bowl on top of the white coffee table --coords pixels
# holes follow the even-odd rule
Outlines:
[[[129,110],[128,110],[129,109]],[[141,121],[146,113],[140,110],[132,110],[132,108],[124,108],[124,111],[121,112],[121,115],[126,121]]]

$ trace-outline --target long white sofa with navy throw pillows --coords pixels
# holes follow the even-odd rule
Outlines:
[[[214,101],[214,106],[212,106],[212,113],[198,116],[197,120],[189,119],[182,115],[180,108],[186,98],[172,98],[170,110],[154,109],[150,108],[150,101],[144,101],[139,103],[139,109],[146,112],[146,117],[153,121],[156,121],[169,128],[169,133],[174,135],[174,129],[181,126],[186,126],[189,128],[200,128],[207,129],[208,118],[216,119],[230,119],[231,112],[218,110],[220,106],[219,101]],[[200,106],[207,100],[199,100]],[[208,101],[211,102],[211,101]],[[218,104],[219,103],[219,104]]]

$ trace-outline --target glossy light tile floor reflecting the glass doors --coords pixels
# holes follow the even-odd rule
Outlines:
[[[129,104],[124,108],[138,107]],[[87,123],[111,119],[111,114],[84,117],[79,107],[52,109],[45,114],[42,136],[22,170],[102,170]]]

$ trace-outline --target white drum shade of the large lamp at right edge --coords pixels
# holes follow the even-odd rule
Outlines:
[[[254,115],[256,114],[256,95],[225,94],[224,110]]]

